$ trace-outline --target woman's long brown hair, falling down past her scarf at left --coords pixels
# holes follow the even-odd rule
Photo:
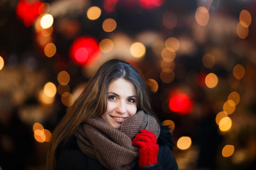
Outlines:
[[[122,60],[105,62],[90,79],[85,90],[55,128],[48,149],[47,169],[53,169],[55,166],[55,151],[60,142],[66,142],[82,121],[100,117],[105,113],[107,109],[107,87],[110,81],[118,78],[127,79],[134,84],[138,97],[137,111],[142,110],[154,116],[142,74],[137,72],[131,64]]]

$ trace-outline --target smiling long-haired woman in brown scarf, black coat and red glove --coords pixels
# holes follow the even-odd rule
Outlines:
[[[55,128],[47,167],[178,169],[171,133],[160,126],[137,70],[127,62],[110,60]]]

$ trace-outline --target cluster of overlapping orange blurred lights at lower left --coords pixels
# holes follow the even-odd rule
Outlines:
[[[37,142],[40,142],[40,143],[50,142],[52,137],[51,132],[49,130],[44,129],[41,123],[33,124],[33,132],[34,132],[35,140]]]

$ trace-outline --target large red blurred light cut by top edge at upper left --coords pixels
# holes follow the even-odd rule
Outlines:
[[[44,11],[44,4],[38,0],[20,0],[16,6],[16,15],[24,26],[32,26],[36,18]]]

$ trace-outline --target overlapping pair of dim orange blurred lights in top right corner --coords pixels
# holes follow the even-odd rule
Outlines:
[[[252,23],[252,16],[249,11],[243,9],[240,12],[237,34],[239,38],[245,39],[249,34],[249,26]]]

